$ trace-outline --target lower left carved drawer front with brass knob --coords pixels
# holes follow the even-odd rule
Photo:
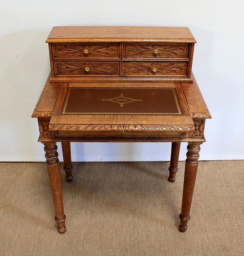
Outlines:
[[[55,61],[55,76],[119,76],[119,61]]]

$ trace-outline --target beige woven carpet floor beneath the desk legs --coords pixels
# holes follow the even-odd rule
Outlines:
[[[184,165],[174,183],[169,162],[75,162],[71,183],[61,169],[59,234],[45,163],[2,162],[0,255],[244,255],[244,161],[199,163],[181,233]]]

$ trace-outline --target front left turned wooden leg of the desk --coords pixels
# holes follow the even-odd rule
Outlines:
[[[52,193],[52,200],[55,211],[55,221],[58,224],[58,232],[64,233],[66,231],[65,219],[63,210],[63,196],[60,178],[59,159],[57,153],[56,143],[44,143],[45,158],[48,170],[48,178]]]

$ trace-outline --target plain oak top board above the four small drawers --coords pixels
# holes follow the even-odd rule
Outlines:
[[[186,27],[65,26],[53,27],[46,43],[80,42],[181,42],[196,43]]]

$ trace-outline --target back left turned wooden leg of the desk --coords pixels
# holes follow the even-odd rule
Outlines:
[[[72,175],[72,163],[71,163],[71,151],[70,151],[70,142],[61,142],[62,151],[63,151],[63,169],[65,171],[65,179],[67,181],[73,180]]]

